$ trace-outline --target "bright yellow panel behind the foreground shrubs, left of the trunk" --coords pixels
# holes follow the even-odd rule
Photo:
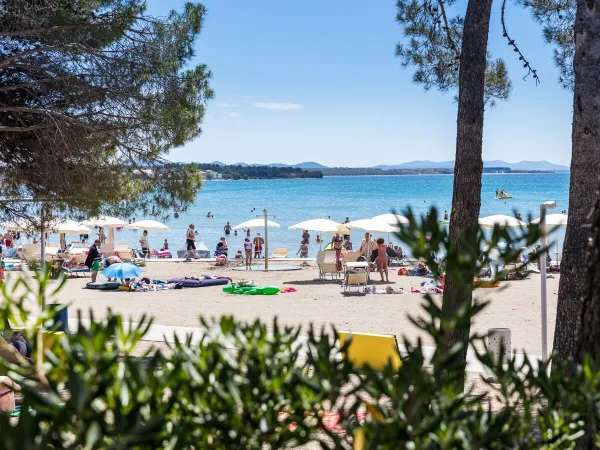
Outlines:
[[[338,331],[340,348],[344,347],[350,337],[352,340],[344,352],[344,358],[352,361],[355,366],[362,368],[368,364],[374,369],[382,369],[391,361],[392,367],[397,370],[402,365],[396,336]]]

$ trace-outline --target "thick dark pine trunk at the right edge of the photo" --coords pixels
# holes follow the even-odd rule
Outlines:
[[[600,175],[600,0],[577,0],[573,69],[573,154],[569,224],[563,245],[554,332],[557,361],[576,356],[577,327],[586,286],[582,263],[590,238],[590,228],[584,225],[589,224],[588,214],[594,205]]]

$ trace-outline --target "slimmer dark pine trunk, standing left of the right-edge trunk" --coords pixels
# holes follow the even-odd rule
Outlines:
[[[483,113],[487,42],[492,0],[469,0],[460,56],[458,88],[458,120],[456,160],[450,239],[459,244],[466,230],[474,230],[481,207],[481,174],[483,172]],[[467,279],[448,279],[444,290],[443,311],[451,316],[465,302],[471,303],[472,276]],[[468,339],[470,329],[457,330],[448,336],[446,349]],[[467,350],[459,355],[466,363]]]

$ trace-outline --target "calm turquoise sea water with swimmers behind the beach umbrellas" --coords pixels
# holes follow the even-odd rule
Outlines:
[[[185,231],[190,223],[196,225],[199,240],[212,250],[218,239],[224,236],[223,226],[227,221],[232,226],[253,219],[267,209],[270,218],[281,228],[269,229],[269,248],[286,247],[290,255],[300,246],[299,231],[287,227],[298,222],[331,218],[343,222],[364,219],[396,209],[399,213],[411,206],[417,213],[425,213],[435,205],[443,213],[450,212],[452,200],[452,175],[415,176],[366,176],[326,177],[320,180],[247,180],[208,181],[199,192],[196,203],[178,219],[167,224],[170,232],[150,231],[150,245],[160,248],[164,239],[169,240],[170,249],[177,250],[185,244]],[[495,200],[495,190],[504,188],[513,195],[510,200]],[[557,211],[568,209],[569,174],[486,174],[483,176],[481,216],[491,214],[512,215],[518,210],[523,218],[528,214],[539,216],[540,202],[554,200]],[[251,210],[256,208],[256,212]],[[206,217],[212,212],[213,219]],[[136,217],[141,220],[142,217]],[[264,234],[263,230],[255,230]],[[364,232],[354,231],[352,241],[360,244]],[[138,245],[139,232],[116,231],[118,241],[129,241]],[[310,256],[315,256],[318,246],[314,244],[317,233],[311,232]],[[560,240],[562,241],[561,232]],[[387,238],[387,236],[384,236]],[[327,235],[325,239],[331,238]],[[243,233],[229,237],[231,250],[243,245]]]

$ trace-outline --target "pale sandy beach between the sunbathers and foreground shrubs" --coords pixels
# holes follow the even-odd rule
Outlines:
[[[213,268],[200,262],[149,262],[144,276],[168,279],[174,276],[198,274],[224,275],[234,281],[252,279],[259,285],[293,286],[297,292],[277,296],[229,295],[221,286],[198,289],[181,289],[159,292],[107,292],[83,289],[89,278],[69,279],[59,296],[61,302],[69,303],[69,316],[76,317],[77,310],[93,310],[96,317],[103,317],[108,307],[136,321],[142,314],[153,316],[156,324],[196,327],[199,317],[218,317],[233,314],[240,320],[260,318],[271,322],[274,316],[280,323],[316,327],[335,325],[338,329],[357,332],[391,333],[407,336],[411,340],[418,335],[407,315],[420,313],[422,296],[410,293],[426,279],[390,275],[390,284],[402,287],[404,294],[366,295],[346,297],[342,295],[339,281],[320,281],[315,263],[311,267],[292,272],[238,272],[231,269]],[[379,279],[379,274],[373,276]],[[100,275],[99,280],[104,278]],[[385,284],[378,287],[385,288]],[[553,340],[556,317],[558,275],[548,279],[548,331],[549,343]],[[489,328],[508,327],[512,330],[513,350],[525,350],[532,355],[541,354],[540,342],[540,277],[532,274],[524,281],[502,283],[501,288],[479,289],[476,297],[489,300],[490,305],[477,318],[473,332],[485,333]],[[441,297],[441,296],[438,296]],[[427,342],[429,343],[429,342]]]

